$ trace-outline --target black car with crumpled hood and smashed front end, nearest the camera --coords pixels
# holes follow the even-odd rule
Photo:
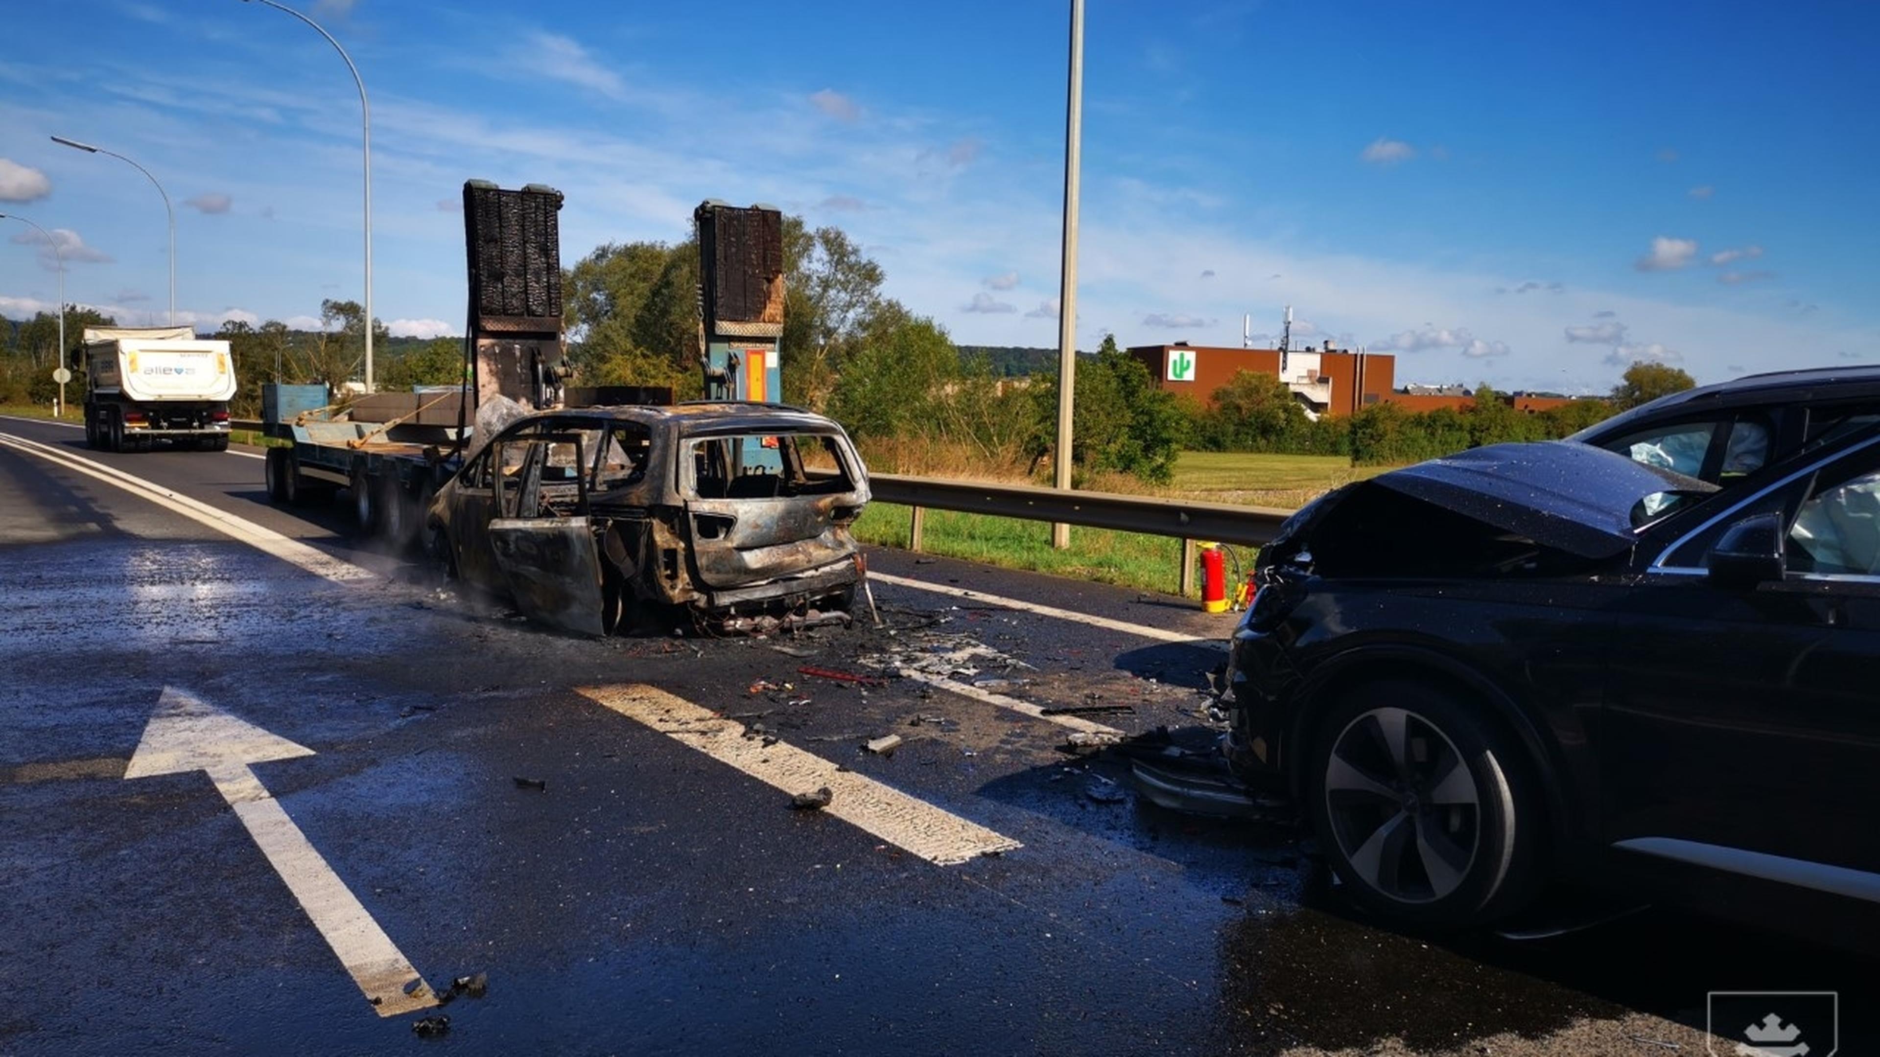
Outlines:
[[[1880,903],[1880,431],[1728,489],[1480,448],[1325,495],[1258,566],[1230,760],[1369,910],[1487,923],[1557,878],[1797,927]]]

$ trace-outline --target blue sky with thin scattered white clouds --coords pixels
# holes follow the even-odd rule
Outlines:
[[[0,211],[60,231],[68,299],[162,323],[167,250],[149,182],[55,134],[169,190],[184,320],[359,297],[359,100],[318,34],[239,0],[17,8]],[[568,194],[564,263],[767,201],[959,342],[1057,344],[1066,2],[303,9],[372,96],[395,333],[462,329],[479,177]],[[1239,344],[1290,303],[1401,382],[1880,359],[1876,30],[1863,4],[1090,0],[1079,342]],[[0,312],[51,307],[49,254],[0,237]]]

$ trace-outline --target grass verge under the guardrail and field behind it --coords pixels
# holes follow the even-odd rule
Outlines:
[[[1337,455],[1184,451],[1175,466],[1175,483],[1151,495],[1292,510],[1380,470],[1354,468]],[[906,506],[876,502],[863,512],[855,534],[869,544],[906,547],[908,519]],[[1181,585],[1181,540],[1107,528],[1072,528],[1070,536],[1070,549],[1058,551],[1051,547],[1051,525],[1043,521],[927,512],[927,551],[934,555],[1166,594],[1175,594]],[[1246,564],[1254,555],[1243,551],[1239,559]]]

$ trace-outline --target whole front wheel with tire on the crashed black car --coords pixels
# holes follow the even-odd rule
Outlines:
[[[1532,764],[1491,713],[1440,685],[1380,681],[1340,696],[1312,732],[1307,816],[1357,905],[1444,929],[1530,897],[1545,812]]]

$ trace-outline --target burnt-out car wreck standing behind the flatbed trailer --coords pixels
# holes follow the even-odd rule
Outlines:
[[[605,636],[848,623],[869,480],[842,427],[750,402],[555,410],[436,495],[432,555],[526,617]]]

